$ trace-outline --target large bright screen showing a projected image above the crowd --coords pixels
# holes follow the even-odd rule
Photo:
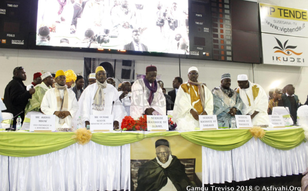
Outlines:
[[[36,45],[188,54],[188,0],[38,0]]]

